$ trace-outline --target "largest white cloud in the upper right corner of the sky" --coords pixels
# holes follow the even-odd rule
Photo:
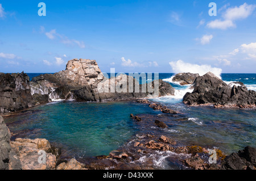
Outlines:
[[[243,5],[239,7],[230,7],[229,9],[224,7],[226,11],[222,14],[223,19],[213,20],[207,24],[207,27],[221,30],[235,28],[236,24],[234,21],[247,18],[253,13],[255,7],[255,5],[247,5],[247,3],[243,3]]]

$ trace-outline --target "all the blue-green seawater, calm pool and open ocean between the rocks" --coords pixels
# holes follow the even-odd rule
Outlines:
[[[39,73],[28,74],[30,78]],[[230,154],[245,146],[256,146],[256,110],[241,108],[214,108],[212,106],[188,107],[182,103],[190,85],[172,82],[172,73],[159,73],[159,78],[169,82],[177,91],[174,96],[151,99],[181,112],[179,116],[166,115],[152,110],[147,104],[122,102],[76,102],[61,100],[31,108],[32,113],[5,117],[12,139],[46,138],[63,149],[63,157],[85,158],[108,155],[139,135],[150,133],[174,139],[179,145],[214,147]],[[221,74],[226,83],[240,81],[247,89],[256,91],[256,74]],[[147,79],[147,81],[152,81]],[[130,113],[143,118],[135,122]],[[158,128],[154,119],[164,121],[168,128]],[[18,126],[17,126],[18,125]],[[171,151],[157,152],[139,159],[153,159],[158,169],[175,169]],[[175,155],[177,157],[177,155]],[[138,162],[139,162],[138,161]],[[179,167],[179,166],[178,166]]]

